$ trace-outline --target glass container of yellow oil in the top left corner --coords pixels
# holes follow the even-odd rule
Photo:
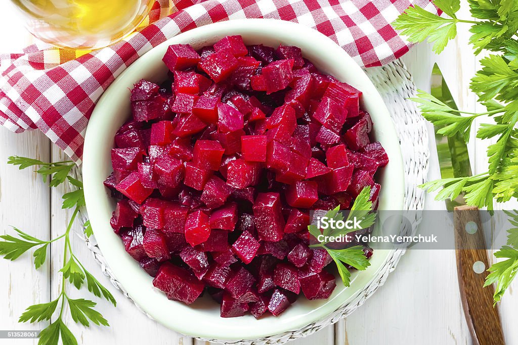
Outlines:
[[[67,49],[106,47],[132,33],[154,0],[11,0],[38,39]]]

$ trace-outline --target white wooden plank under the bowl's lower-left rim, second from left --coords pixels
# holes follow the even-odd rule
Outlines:
[[[66,160],[67,157],[55,146],[52,147],[53,161]],[[64,211],[61,209],[62,194],[68,188],[52,189],[51,192],[51,232],[52,237],[61,235],[68,224],[69,217],[73,211]],[[73,231],[80,233],[82,231],[79,222],[76,222]],[[116,290],[110,283],[109,279],[103,275],[100,266],[93,260],[91,252],[87,249],[84,242],[78,236],[71,237],[74,254],[79,258],[80,262],[92,273],[117,299],[117,307],[113,307],[104,299],[98,299],[88,290],[82,288],[77,291],[74,287],[70,287],[67,283],[67,292],[73,298],[89,298],[97,302],[96,310],[110,323],[110,327],[92,325],[85,328],[75,324],[69,314],[65,317],[70,330],[76,335],[79,343],[83,344],[178,344],[190,345],[192,339],[184,337],[176,332],[167,329],[161,324],[149,319],[120,291]],[[63,246],[60,242],[59,246],[52,249],[52,293],[57,294],[61,286],[61,273],[59,269],[63,262]],[[132,331],[135,330],[135,331]]]

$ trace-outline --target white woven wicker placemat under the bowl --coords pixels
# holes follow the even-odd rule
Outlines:
[[[421,211],[424,204],[424,191],[417,188],[418,185],[425,182],[428,173],[428,132],[425,127],[425,120],[420,115],[415,104],[408,100],[409,97],[415,95],[415,85],[412,77],[405,65],[397,60],[393,63],[382,67],[372,67],[365,69],[372,83],[377,87],[381,97],[385,101],[389,112],[394,121],[396,131],[399,136],[401,145],[401,153],[404,163],[405,171],[405,210],[415,211],[411,214],[414,218],[408,223],[406,228],[401,229],[401,233],[414,233],[421,222]],[[410,214],[410,213],[409,213]],[[83,210],[80,213],[80,220],[82,223],[87,221],[88,215]],[[92,251],[95,260],[100,264],[102,272],[110,278],[114,287],[122,292],[122,294],[131,299],[126,293],[121,284],[114,277],[113,272],[107,265],[103,254],[97,247],[94,236],[85,238],[83,234],[80,235],[85,241],[88,249]],[[234,344],[239,343],[243,345],[259,345],[259,344],[282,344],[290,340],[301,337],[306,337],[310,334],[319,331],[323,327],[337,322],[338,320],[347,317],[356,308],[361,306],[367,298],[369,298],[380,286],[382,286],[389,273],[394,271],[401,256],[405,253],[404,249],[393,250],[385,264],[380,269],[378,275],[366,284],[365,289],[357,293],[350,302],[340,306],[333,313],[330,313],[325,319],[318,322],[311,323],[302,329],[296,329],[291,332],[285,332],[261,339],[253,340],[224,340],[224,339],[200,339],[218,343]],[[138,309],[144,312],[138,305]],[[149,317],[149,315],[148,315]]]

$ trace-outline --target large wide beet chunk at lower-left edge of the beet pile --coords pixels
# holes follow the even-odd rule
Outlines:
[[[191,304],[205,286],[192,273],[170,262],[164,262],[153,279],[153,286],[164,291],[167,298]]]

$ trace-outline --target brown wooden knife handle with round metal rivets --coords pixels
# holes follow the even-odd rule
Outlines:
[[[457,257],[458,286],[461,290],[464,316],[474,345],[504,345],[502,325],[498,310],[493,307],[493,286],[483,288],[489,267],[484,241],[484,229],[479,209],[473,206],[455,207],[455,248]],[[468,224],[466,226],[466,224]],[[473,234],[466,229],[478,229]],[[470,231],[472,232],[472,231]],[[468,248],[468,249],[459,249]],[[474,249],[479,248],[479,249]],[[484,272],[476,273],[473,264],[481,261]]]

